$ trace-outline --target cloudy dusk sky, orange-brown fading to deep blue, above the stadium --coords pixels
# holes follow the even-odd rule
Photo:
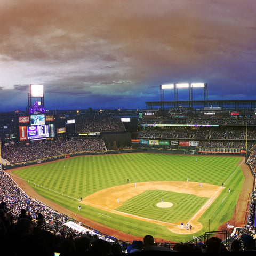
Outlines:
[[[255,0],[0,0],[0,111],[25,110],[29,84],[46,109],[145,109],[176,82],[254,100],[255,13]]]

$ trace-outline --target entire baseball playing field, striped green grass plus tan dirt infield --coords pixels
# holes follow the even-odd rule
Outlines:
[[[131,153],[67,158],[12,175],[32,188],[28,195],[35,191],[53,208],[100,223],[100,231],[186,242],[231,219],[242,165],[241,157]]]

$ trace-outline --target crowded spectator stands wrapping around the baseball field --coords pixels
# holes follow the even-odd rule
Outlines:
[[[18,113],[18,115],[16,113],[10,117],[5,115],[1,119],[2,170],[0,173],[1,199],[7,206],[7,212],[4,213],[5,217],[9,219],[10,223],[15,223],[21,208],[26,207],[35,221],[36,212],[40,211],[45,217],[42,227],[44,230],[50,231],[51,234],[71,241],[75,241],[75,238],[81,237],[82,234],[86,234],[87,238],[97,237],[111,244],[118,241],[124,253],[127,252],[127,246],[132,244],[132,236],[127,241],[122,236],[104,234],[102,230],[97,230],[95,226],[91,226],[93,222],[83,223],[78,218],[71,218],[68,214],[60,213],[41,201],[28,197],[7,174],[7,171],[14,167],[34,165],[78,155],[102,155],[109,152],[119,154],[125,150],[125,152],[142,151],[198,156],[242,156],[251,170],[251,180],[254,182],[256,171],[256,130],[254,126],[256,118],[254,109],[241,110],[239,108],[238,110],[234,108],[230,111],[222,108],[218,111],[212,111],[174,106],[151,111],[154,113],[154,118],[152,115],[146,115],[148,113],[150,110],[125,111],[125,113],[120,113],[118,110],[106,111],[105,113],[92,111],[90,114],[87,111],[82,114],[80,111],[79,115],[76,111],[52,113],[50,115],[54,115],[54,121],[50,118],[45,124],[50,125],[50,127],[51,125],[54,126],[54,136],[46,137],[43,140],[24,141],[20,140],[19,127],[23,123],[19,123],[21,120],[19,117],[25,117],[26,113]],[[126,117],[130,115],[133,125],[121,122],[119,117],[122,115]],[[75,120],[75,125],[69,124],[68,120]],[[62,128],[65,128],[65,132],[62,132]],[[254,235],[255,194],[255,186],[253,186],[250,194],[246,195],[249,203],[244,209],[246,212],[244,226],[226,226],[227,223],[223,223],[222,230],[207,232],[200,237],[195,237],[193,241],[183,241],[183,243],[198,246],[199,239],[202,239],[205,244],[207,239],[214,236],[220,237],[221,241],[225,242],[226,247],[230,249],[231,243],[236,239],[241,239],[242,234]],[[161,239],[156,242],[158,245],[167,244],[172,248],[177,244],[177,241],[163,241]],[[58,244],[58,246],[60,245]],[[177,247],[175,248],[178,250]]]

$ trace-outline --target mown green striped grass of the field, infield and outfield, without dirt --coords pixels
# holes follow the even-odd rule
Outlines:
[[[187,181],[187,178],[192,182],[218,186],[225,183],[226,189],[199,219],[203,229],[193,234],[199,236],[209,231],[209,223],[211,231],[214,231],[231,218],[244,181],[242,170],[237,166],[240,159],[151,153],[94,155],[31,166],[16,170],[14,173],[26,180],[45,198],[77,213],[80,197],[84,198],[101,189],[125,185],[127,179],[129,182],[137,183]],[[232,193],[228,192],[228,188]],[[165,209],[165,212],[161,210],[159,213],[152,202],[153,198],[159,201],[162,197],[172,197],[171,202],[174,202],[174,207],[167,211]],[[173,200],[173,197],[177,199]],[[145,202],[145,200],[148,201],[147,206],[138,207],[136,202]],[[198,201],[198,198],[192,195],[171,193],[159,188],[131,198],[117,210],[145,218],[174,222],[188,219],[205,200],[207,198],[199,198]],[[81,207],[79,214],[135,236],[143,237],[151,234],[154,237],[178,242],[192,239],[191,235],[175,234],[161,225],[106,213],[87,205]]]

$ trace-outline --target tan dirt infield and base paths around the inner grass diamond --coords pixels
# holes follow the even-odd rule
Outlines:
[[[115,209],[121,206],[122,202],[125,202],[130,198],[135,197],[148,190],[166,190],[177,193],[193,194],[200,197],[207,197],[209,198],[209,200],[203,205],[203,207],[201,207],[201,209],[194,215],[194,217],[192,217],[191,220],[185,221],[185,223],[189,222],[193,226],[193,233],[195,233],[202,228],[201,223],[197,222],[197,220],[220,195],[223,189],[223,187],[206,183],[202,183],[202,187],[200,187],[198,182],[185,181],[141,182],[137,183],[136,186],[134,183],[130,183],[97,191],[96,193],[85,197],[83,199],[83,203],[107,212],[124,215],[129,218],[151,222],[158,225],[163,225],[174,233],[191,234],[190,230],[186,230],[186,228],[181,228],[180,223],[169,223],[164,221],[152,220],[129,213],[116,211]]]

